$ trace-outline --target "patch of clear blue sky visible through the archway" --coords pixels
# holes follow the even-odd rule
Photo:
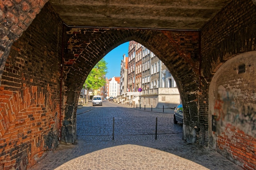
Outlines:
[[[128,56],[128,46],[129,42],[125,42],[105,55],[104,59],[108,63],[108,73],[106,74],[108,79],[113,76],[120,77],[121,60],[123,60],[124,54],[126,57]]]

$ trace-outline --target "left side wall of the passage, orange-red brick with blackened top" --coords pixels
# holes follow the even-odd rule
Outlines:
[[[46,4],[11,46],[0,86],[0,170],[25,170],[58,146],[61,35]]]

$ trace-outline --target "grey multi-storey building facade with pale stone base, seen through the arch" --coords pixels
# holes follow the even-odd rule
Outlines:
[[[180,103],[175,80],[164,63],[144,46],[142,51],[140,104],[156,108],[173,108]],[[137,65],[137,64],[136,64]]]

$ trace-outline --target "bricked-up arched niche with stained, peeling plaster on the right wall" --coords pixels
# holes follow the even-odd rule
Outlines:
[[[256,51],[232,57],[216,71],[209,86],[212,147],[231,161],[245,164],[245,155],[254,155],[250,144],[256,137],[255,57]]]

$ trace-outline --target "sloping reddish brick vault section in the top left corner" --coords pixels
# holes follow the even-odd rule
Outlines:
[[[11,43],[17,40],[48,0],[2,0],[0,2],[0,78]]]

